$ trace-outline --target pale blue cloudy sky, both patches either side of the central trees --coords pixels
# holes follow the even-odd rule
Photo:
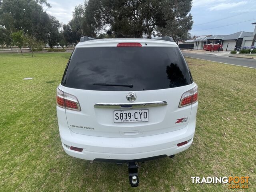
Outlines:
[[[47,12],[66,24],[72,11],[84,0],[48,0]],[[193,0],[191,14],[194,25],[191,34],[225,35],[238,31],[252,32],[256,22],[256,0]]]

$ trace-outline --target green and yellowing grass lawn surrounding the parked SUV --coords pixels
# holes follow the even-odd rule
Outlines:
[[[187,58],[199,86],[192,146],[139,164],[90,162],[62,149],[55,90],[70,53],[0,54],[0,191],[256,191],[256,70]],[[23,80],[34,77],[32,80]],[[246,190],[192,184],[191,176],[250,176]]]

